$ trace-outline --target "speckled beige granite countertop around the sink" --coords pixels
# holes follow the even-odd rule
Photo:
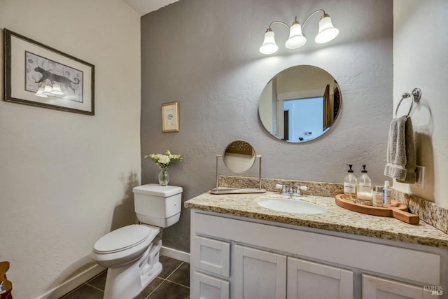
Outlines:
[[[308,228],[448,248],[448,234],[421,220],[419,224],[415,225],[395,218],[360,214],[337,206],[335,197],[316,195],[292,198],[318,204],[326,209],[325,213],[293,214],[266,209],[257,204],[262,199],[272,197],[290,198],[269,191],[266,193],[225,195],[214,195],[207,192],[186,201],[185,207]]]

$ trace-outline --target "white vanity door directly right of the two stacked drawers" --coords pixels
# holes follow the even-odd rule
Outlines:
[[[286,256],[235,246],[235,298],[286,299]]]

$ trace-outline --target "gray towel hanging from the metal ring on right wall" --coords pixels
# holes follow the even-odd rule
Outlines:
[[[415,183],[416,157],[414,129],[408,116],[394,118],[387,142],[387,160],[384,175],[400,183]]]

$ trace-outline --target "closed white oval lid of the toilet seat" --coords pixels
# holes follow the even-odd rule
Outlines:
[[[154,228],[144,225],[127,225],[99,238],[93,249],[98,253],[123,251],[144,242],[153,230]]]

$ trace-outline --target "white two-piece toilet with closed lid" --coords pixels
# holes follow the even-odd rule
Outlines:
[[[113,230],[94,244],[91,257],[108,268],[104,298],[133,298],[162,272],[160,232],[179,221],[182,188],[149,183],[134,187],[139,223]]]

